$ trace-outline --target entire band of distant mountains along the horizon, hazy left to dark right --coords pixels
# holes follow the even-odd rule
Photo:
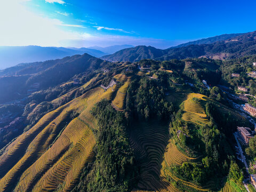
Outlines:
[[[136,47],[132,45],[92,46],[87,48],[0,46],[0,70],[18,65],[19,63],[61,59],[84,53],[108,61],[130,62],[142,59],[170,60],[197,57],[231,59],[243,55],[256,54],[255,39],[255,31],[244,34],[224,34],[184,43],[165,50],[143,45]]]

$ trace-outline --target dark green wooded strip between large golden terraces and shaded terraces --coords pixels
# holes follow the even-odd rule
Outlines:
[[[99,129],[95,133],[97,153],[91,172],[78,191],[129,191],[135,176],[134,157],[125,133],[124,114],[111,107],[106,100],[92,109],[98,120]]]

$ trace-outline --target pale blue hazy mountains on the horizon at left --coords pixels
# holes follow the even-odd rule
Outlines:
[[[19,63],[30,63],[61,59],[76,54],[90,54],[93,57],[102,57],[116,51],[133,47],[132,45],[114,45],[109,47],[75,48],[75,47],[41,47],[41,46],[0,46],[0,70],[18,65]]]

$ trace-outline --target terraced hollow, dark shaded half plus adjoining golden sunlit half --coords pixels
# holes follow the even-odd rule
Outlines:
[[[133,191],[180,191],[168,181],[169,179],[181,182],[186,187],[185,190],[194,188],[197,191],[209,191],[214,183],[197,186],[175,177],[170,172],[170,166],[196,161],[197,158],[188,157],[178,150],[166,134],[167,127],[155,123],[138,123],[135,131],[130,134],[135,156],[142,162],[139,183]]]

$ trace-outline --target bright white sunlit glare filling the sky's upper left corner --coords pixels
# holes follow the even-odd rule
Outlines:
[[[60,46],[62,41],[90,38],[90,34],[77,33],[81,25],[63,23],[58,19],[41,17],[22,5],[25,0],[0,1],[0,45]],[[62,30],[60,26],[70,27]]]

